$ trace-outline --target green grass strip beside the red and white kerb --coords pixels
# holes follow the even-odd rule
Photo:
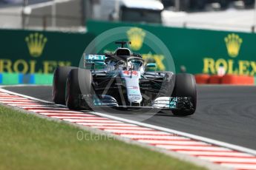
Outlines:
[[[165,154],[0,105],[0,169],[203,169]]]

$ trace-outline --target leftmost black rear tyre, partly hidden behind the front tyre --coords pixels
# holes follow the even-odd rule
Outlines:
[[[65,104],[65,86],[68,73],[76,67],[57,67],[53,74],[53,102],[56,104]]]

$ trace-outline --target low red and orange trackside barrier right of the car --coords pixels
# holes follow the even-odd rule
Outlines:
[[[256,77],[249,75],[194,75],[197,84],[255,85]]]

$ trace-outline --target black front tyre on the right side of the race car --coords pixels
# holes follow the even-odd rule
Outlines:
[[[197,108],[197,86],[194,75],[177,74],[175,76],[174,97],[190,97],[193,104],[192,109],[177,109],[172,113],[177,116],[193,115]]]

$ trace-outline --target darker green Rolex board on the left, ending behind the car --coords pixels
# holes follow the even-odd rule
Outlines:
[[[85,33],[57,33],[0,30],[0,72],[53,73],[57,66],[77,66],[93,36]]]

